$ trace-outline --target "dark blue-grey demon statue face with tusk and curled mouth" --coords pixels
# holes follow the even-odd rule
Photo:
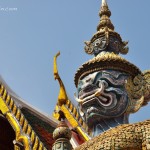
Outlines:
[[[101,119],[121,116],[127,109],[128,75],[105,70],[89,74],[78,83],[79,113],[90,126]]]

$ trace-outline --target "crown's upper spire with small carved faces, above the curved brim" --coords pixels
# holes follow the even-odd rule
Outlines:
[[[122,41],[121,36],[114,31],[114,25],[111,23],[109,10],[106,0],[102,0],[99,11],[100,22],[97,26],[97,32],[90,41],[85,42],[85,52],[97,56],[101,52],[113,52],[115,54],[127,54],[128,42]]]

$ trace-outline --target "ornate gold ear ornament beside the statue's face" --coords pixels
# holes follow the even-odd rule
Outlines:
[[[130,77],[126,89],[130,99],[127,113],[135,113],[150,101],[150,71]]]

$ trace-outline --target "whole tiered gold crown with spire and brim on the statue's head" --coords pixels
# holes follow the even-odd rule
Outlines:
[[[106,0],[102,0],[99,12],[100,22],[97,32],[90,41],[85,42],[85,52],[94,54],[94,58],[84,63],[75,74],[75,85],[79,79],[86,75],[104,69],[114,69],[130,74],[132,77],[141,73],[133,64],[123,59],[118,54],[128,53],[128,42],[122,41],[121,36],[114,31],[114,25],[110,20],[111,11]]]

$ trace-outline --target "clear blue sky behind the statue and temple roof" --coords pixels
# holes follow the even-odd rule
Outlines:
[[[100,4],[100,0],[0,0],[0,74],[27,103],[52,114],[59,92],[53,78],[53,56],[58,51],[59,73],[74,100],[74,74],[92,58],[84,53],[84,41],[96,32]],[[115,30],[129,40],[129,53],[123,57],[142,71],[150,69],[150,0],[108,4]],[[131,115],[130,122],[150,119],[149,107]]]

